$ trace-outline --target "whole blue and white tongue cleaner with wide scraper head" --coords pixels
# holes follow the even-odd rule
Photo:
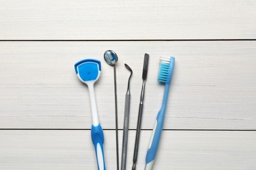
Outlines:
[[[103,130],[98,121],[98,113],[96,108],[94,84],[100,77],[101,65],[96,59],[83,59],[75,63],[75,73],[81,82],[87,84],[91,99],[91,111],[93,116],[93,125],[91,126],[91,139],[95,145],[96,159],[98,170],[106,170],[104,160],[104,136]]]

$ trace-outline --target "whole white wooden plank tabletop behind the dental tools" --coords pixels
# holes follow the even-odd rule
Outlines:
[[[138,169],[161,106],[160,56],[175,56],[155,169],[256,169],[256,1],[0,1],[0,169],[97,169],[89,93],[74,63],[102,61],[96,84],[107,169],[116,169],[129,72],[131,169],[144,53],[150,54]],[[121,148],[122,130],[119,131]],[[121,153],[121,149],[119,150]]]

